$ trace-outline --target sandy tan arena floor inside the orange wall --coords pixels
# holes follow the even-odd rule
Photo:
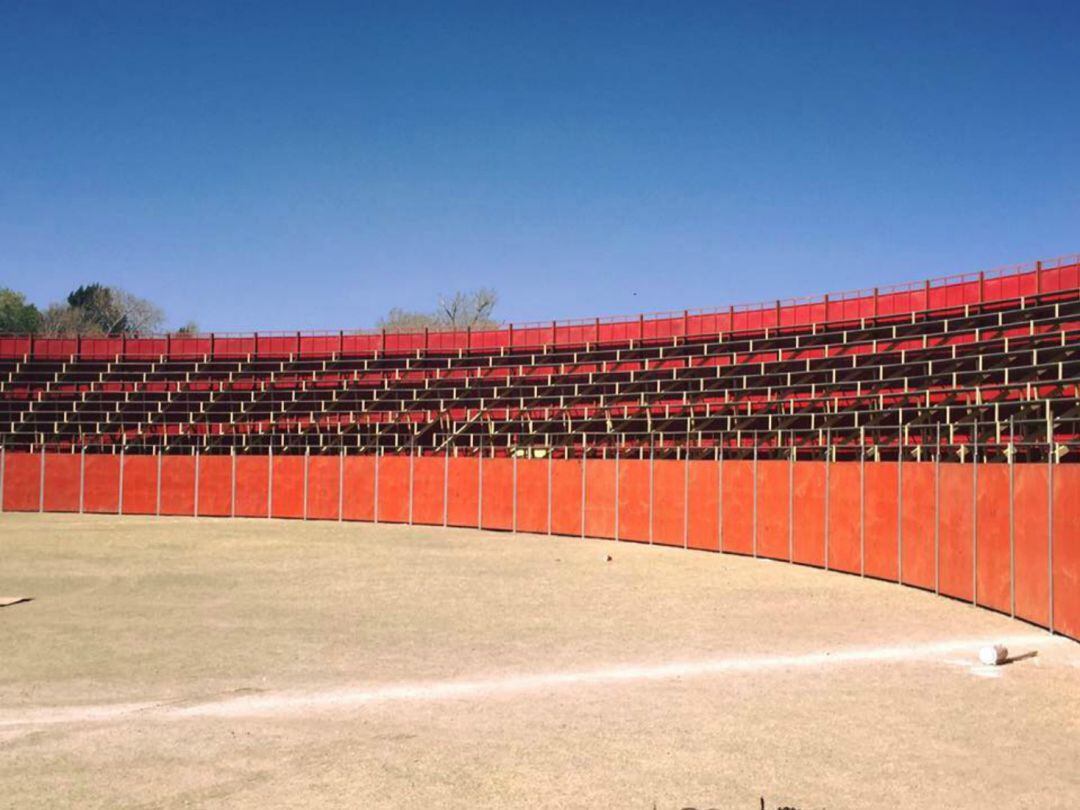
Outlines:
[[[612,559],[606,559],[607,555]],[[1080,645],[630,543],[0,515],[0,807],[1057,808]],[[978,665],[984,643],[1020,657]]]

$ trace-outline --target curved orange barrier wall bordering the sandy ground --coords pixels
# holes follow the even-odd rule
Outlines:
[[[1080,638],[1080,464],[0,459],[9,512],[340,516],[723,549],[902,581]]]

